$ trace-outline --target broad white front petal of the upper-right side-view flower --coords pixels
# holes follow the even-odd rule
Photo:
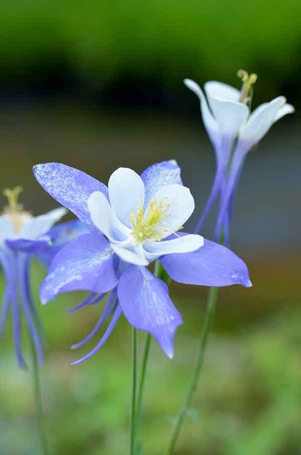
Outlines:
[[[223,136],[234,140],[240,128],[249,116],[248,107],[240,102],[225,101],[220,98],[209,98],[214,116]]]

